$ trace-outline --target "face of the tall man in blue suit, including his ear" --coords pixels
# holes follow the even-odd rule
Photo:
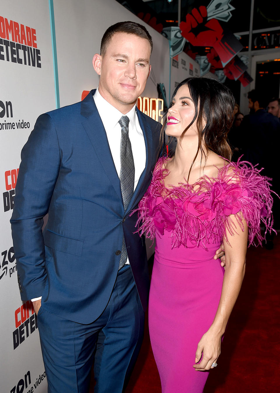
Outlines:
[[[151,70],[149,41],[133,34],[115,33],[103,55],[94,55],[99,93],[123,114],[142,94]]]

